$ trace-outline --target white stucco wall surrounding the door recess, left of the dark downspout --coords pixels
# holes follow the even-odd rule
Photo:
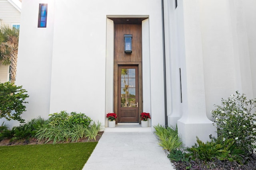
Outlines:
[[[113,105],[105,102],[106,94],[113,90],[110,80],[106,80],[111,78],[106,75],[106,68],[112,69],[113,64],[106,49],[113,43],[109,39],[106,41],[107,25],[111,24],[107,22],[107,16],[148,16],[150,38],[148,49],[144,50],[150,54],[147,57],[153,64],[143,68],[150,69],[147,74],[151,80],[151,104],[146,104],[151,108],[144,109],[151,111],[152,123],[164,124],[163,70],[159,69],[162,68],[160,0],[90,3],[83,0],[23,0],[22,3],[21,24],[28,29],[21,30],[17,84],[24,85],[30,95],[28,111],[24,114],[26,118],[31,115],[47,117],[49,113],[66,110],[82,112],[105,123],[105,114],[112,111],[109,109]],[[48,3],[47,28],[37,28],[39,3]],[[107,70],[107,73],[111,74],[111,71]],[[28,81],[28,77],[33,80]]]

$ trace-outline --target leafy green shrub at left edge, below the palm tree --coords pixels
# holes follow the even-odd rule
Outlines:
[[[24,104],[28,102],[24,100],[29,97],[26,92],[22,86],[16,86],[10,82],[0,83],[0,118],[23,123],[24,119],[20,115],[26,111]]]

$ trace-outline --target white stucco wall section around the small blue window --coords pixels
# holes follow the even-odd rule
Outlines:
[[[50,114],[54,1],[40,3],[48,3],[46,28],[38,28],[39,1],[22,1],[16,84],[28,91],[26,120]]]

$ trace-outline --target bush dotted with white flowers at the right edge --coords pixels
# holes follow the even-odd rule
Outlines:
[[[222,98],[222,106],[212,111],[218,138],[234,139],[239,149],[252,153],[256,148],[256,115],[252,112],[255,106],[256,99],[246,100],[238,92],[227,100]]]

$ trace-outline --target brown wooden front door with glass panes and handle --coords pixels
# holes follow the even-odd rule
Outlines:
[[[138,122],[138,65],[118,66],[118,122]]]

